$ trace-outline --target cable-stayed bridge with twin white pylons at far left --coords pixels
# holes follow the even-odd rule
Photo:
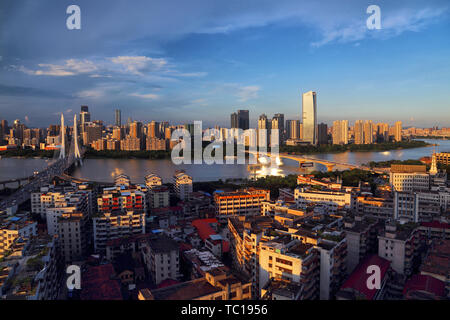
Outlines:
[[[50,183],[51,179],[55,176],[62,175],[69,167],[73,164],[81,164],[83,153],[80,152],[80,147],[78,145],[78,126],[76,115],[74,117],[74,130],[71,146],[69,151],[66,152],[66,134],[64,126],[64,116],[61,114],[61,148],[59,153],[55,153],[55,158],[47,168],[44,170],[26,178],[14,179],[3,181],[4,183],[9,183],[12,181],[19,181],[19,189],[15,191],[12,195],[0,202],[0,210],[6,210],[10,207],[19,206],[25,201],[30,199],[31,193],[38,190],[40,187]],[[84,150],[82,150],[84,151]],[[21,187],[20,181],[24,181],[25,184]],[[3,183],[2,182],[2,183]],[[0,183],[1,184],[1,183]]]

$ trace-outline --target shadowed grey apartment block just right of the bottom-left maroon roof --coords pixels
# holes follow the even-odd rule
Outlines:
[[[178,244],[166,235],[150,236],[142,248],[144,263],[155,284],[180,277]]]

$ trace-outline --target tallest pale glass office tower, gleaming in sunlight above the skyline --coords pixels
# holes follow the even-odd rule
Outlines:
[[[302,95],[303,141],[317,144],[317,94],[314,91]]]

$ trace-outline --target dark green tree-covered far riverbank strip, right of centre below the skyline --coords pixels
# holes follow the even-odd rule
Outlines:
[[[374,144],[345,144],[345,145],[319,145],[319,146],[281,146],[280,152],[289,154],[320,154],[343,152],[380,152],[400,149],[423,148],[431,144],[421,141],[383,142]]]

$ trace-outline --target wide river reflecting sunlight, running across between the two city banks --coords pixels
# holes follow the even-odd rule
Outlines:
[[[428,143],[436,143],[437,151],[450,151],[450,140],[424,140]],[[408,160],[420,159],[424,156],[431,156],[433,147],[423,147],[414,149],[392,150],[384,152],[344,152],[344,153],[324,153],[307,155],[316,159],[325,159],[335,162],[364,164],[370,161],[387,161],[392,159]],[[0,181],[13,178],[21,178],[33,174],[44,168],[48,161],[44,159],[17,159],[3,158],[0,160]],[[315,164],[313,168],[300,169],[298,163],[293,160],[284,159],[279,168],[252,168],[247,165],[175,165],[170,159],[165,160],[145,160],[145,159],[85,159],[83,166],[78,167],[73,172],[77,178],[83,178],[100,182],[111,182],[119,173],[130,176],[132,182],[141,183],[148,173],[160,175],[164,182],[171,182],[176,170],[183,169],[191,175],[194,181],[213,181],[226,179],[242,179],[254,176],[265,175],[288,175],[304,173],[311,170],[326,170],[320,164]],[[336,169],[341,169],[337,167]]]

